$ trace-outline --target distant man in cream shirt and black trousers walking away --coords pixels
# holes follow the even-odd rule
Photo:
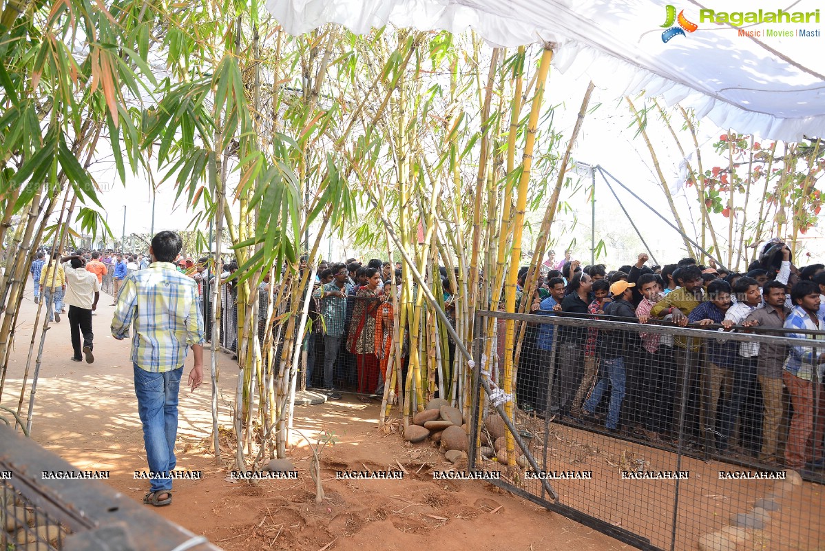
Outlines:
[[[72,361],[82,361],[86,357],[86,363],[91,364],[95,360],[92,355],[94,348],[92,333],[92,312],[97,309],[97,300],[100,299],[101,284],[97,280],[97,275],[91,271],[86,271],[83,258],[80,255],[63,257],[61,262],[69,262],[65,265],[66,274],[66,294],[64,303],[68,304],[68,327],[72,332],[72,348],[74,356]],[[80,346],[80,334],[83,334],[83,346]],[[82,354],[81,354],[82,351]]]

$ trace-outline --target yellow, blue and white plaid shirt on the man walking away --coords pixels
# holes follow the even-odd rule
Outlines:
[[[188,346],[204,343],[198,286],[168,262],[153,262],[126,276],[120,288],[111,334],[129,337],[131,360],[142,370],[164,373],[186,360]]]

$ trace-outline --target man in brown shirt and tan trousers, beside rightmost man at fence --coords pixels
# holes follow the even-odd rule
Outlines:
[[[768,281],[762,288],[765,308],[757,308],[747,316],[748,322],[757,327],[781,329],[790,315],[785,307],[785,285],[780,281]],[[771,333],[781,337],[781,332]],[[782,421],[782,368],[788,357],[788,347],[784,344],[759,345],[757,356],[757,378],[762,389],[764,417],[762,417],[762,447],[759,459],[768,464],[776,464],[776,447]]]

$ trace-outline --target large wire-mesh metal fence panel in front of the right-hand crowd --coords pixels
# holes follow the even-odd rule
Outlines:
[[[525,329],[515,350],[498,338],[509,320]],[[825,343],[708,327],[478,313],[469,469],[639,549],[818,549]],[[482,373],[513,378],[510,436]]]

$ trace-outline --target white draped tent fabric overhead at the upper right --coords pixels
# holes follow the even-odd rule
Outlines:
[[[667,105],[678,101],[724,129],[762,139],[825,135],[821,0],[784,6],[683,0],[672,8],[666,0],[268,0],[266,7],[295,35],[326,23],[356,34],[390,24],[455,34],[473,29],[503,47],[552,44],[554,68],[589,78],[616,97],[662,96]],[[703,18],[701,10],[713,10],[713,18],[708,12]],[[663,27],[671,11],[683,14],[685,26],[677,19]],[[752,13],[757,21],[736,26],[722,21],[720,12],[731,14],[730,21],[737,14],[747,21]],[[794,13],[807,13],[808,22],[790,21]],[[766,14],[780,21],[764,22]],[[666,31],[672,35],[667,42]]]

